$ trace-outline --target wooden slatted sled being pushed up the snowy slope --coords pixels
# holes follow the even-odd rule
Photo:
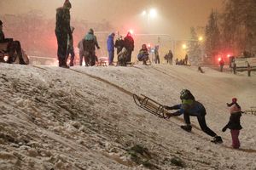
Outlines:
[[[137,96],[137,94],[133,94],[133,99],[136,105],[152,113],[155,116],[159,116],[160,118],[164,118],[164,119],[167,118],[166,116],[167,111],[165,110],[164,105],[161,105],[160,103],[154,101],[154,99],[150,99],[143,94],[141,94],[141,96]]]

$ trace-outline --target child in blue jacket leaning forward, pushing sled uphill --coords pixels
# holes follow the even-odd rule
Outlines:
[[[166,110],[178,110],[174,113],[167,113],[166,116],[169,118],[171,116],[180,116],[183,114],[184,121],[186,125],[181,126],[183,130],[187,132],[191,132],[192,126],[190,123],[189,116],[196,116],[201,127],[201,130],[204,133],[213,137],[213,143],[222,143],[222,139],[216,133],[214,133],[209,127],[207,127],[207,122],[205,116],[207,115],[207,111],[200,102],[195,100],[195,97],[188,89],[183,89],[180,93],[180,99],[182,103],[180,105],[173,105],[173,106],[164,106]]]

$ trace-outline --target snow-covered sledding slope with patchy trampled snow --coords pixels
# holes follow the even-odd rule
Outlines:
[[[227,102],[256,106],[256,74],[232,75],[170,65],[80,67],[0,64],[0,169],[256,169],[256,116],[241,118],[241,150],[232,150]],[[175,105],[189,88],[224,139],[135,105],[145,94]],[[199,127],[195,118],[192,122]]]

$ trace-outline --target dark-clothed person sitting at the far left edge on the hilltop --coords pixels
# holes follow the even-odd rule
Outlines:
[[[22,57],[22,49],[19,41],[13,41],[13,38],[5,38],[3,33],[3,22],[0,20],[0,42],[7,42],[7,51],[9,53],[9,59],[7,63],[11,64],[15,62],[15,53],[19,56],[20,65],[27,65]]]

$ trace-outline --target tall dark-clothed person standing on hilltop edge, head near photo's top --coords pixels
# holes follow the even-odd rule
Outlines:
[[[69,0],[66,0],[63,7],[56,9],[55,36],[58,42],[58,60],[59,66],[69,68],[67,66],[67,36],[73,37],[70,27],[70,8],[72,8]]]

